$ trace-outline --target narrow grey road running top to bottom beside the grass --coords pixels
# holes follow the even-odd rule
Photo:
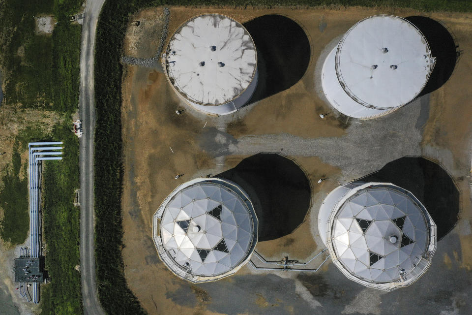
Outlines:
[[[93,65],[95,31],[98,15],[105,0],[87,0],[80,54],[79,114],[83,120],[84,135],[80,139],[80,265],[82,299],[85,315],[104,315],[97,298],[95,278],[93,150],[95,131],[95,101]]]

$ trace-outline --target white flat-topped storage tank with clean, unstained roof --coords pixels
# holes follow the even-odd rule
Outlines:
[[[435,61],[425,36],[411,22],[371,16],[349,29],[326,57],[324,95],[347,116],[383,116],[421,93]]]

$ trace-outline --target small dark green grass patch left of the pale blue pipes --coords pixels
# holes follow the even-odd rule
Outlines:
[[[20,179],[21,160],[18,145],[14,148],[12,170],[7,170],[2,181],[4,188],[0,191],[0,207],[3,209],[3,220],[0,224],[0,236],[11,245],[25,242],[28,236],[28,176],[25,172]]]

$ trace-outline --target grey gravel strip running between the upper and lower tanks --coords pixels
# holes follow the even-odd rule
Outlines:
[[[221,129],[208,129],[201,145],[213,156],[260,152],[317,156],[323,162],[342,169],[343,180],[350,181],[376,171],[394,159],[421,155],[420,128],[425,120],[422,111],[427,113],[427,109],[422,108],[428,106],[427,97],[423,96],[383,118],[353,120],[342,137],[301,138],[283,133],[235,139]]]

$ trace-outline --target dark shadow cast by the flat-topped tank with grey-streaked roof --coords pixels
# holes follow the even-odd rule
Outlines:
[[[247,104],[287,90],[305,74],[310,63],[310,42],[294,20],[269,14],[243,23],[257,50],[259,79]]]

